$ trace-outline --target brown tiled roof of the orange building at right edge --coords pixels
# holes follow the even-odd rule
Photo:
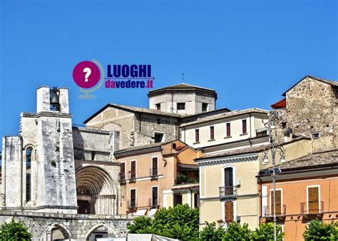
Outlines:
[[[282,170],[282,174],[300,173],[311,170],[324,170],[331,168],[338,168],[338,150],[329,150],[319,153],[312,153],[305,155],[302,158],[290,160],[286,163],[277,165]],[[260,175],[265,174],[266,170],[272,170],[272,168],[266,168],[260,171]]]

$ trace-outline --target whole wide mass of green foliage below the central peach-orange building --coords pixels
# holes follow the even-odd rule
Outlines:
[[[199,211],[188,205],[161,208],[154,219],[136,217],[133,224],[128,225],[130,233],[153,233],[179,240],[198,239]]]

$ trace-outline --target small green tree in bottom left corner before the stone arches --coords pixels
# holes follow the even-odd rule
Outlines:
[[[4,222],[0,227],[0,240],[31,240],[33,235],[28,231],[28,227],[22,222],[16,222],[14,218],[11,222]]]

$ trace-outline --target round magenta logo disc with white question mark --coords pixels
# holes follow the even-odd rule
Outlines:
[[[73,79],[81,88],[92,88],[100,80],[100,69],[91,61],[82,61],[75,66]]]

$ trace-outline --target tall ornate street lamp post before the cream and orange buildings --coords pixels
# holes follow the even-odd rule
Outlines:
[[[284,148],[278,146],[275,147],[275,140],[272,136],[272,130],[275,130],[275,119],[277,114],[270,111],[269,113],[269,122],[265,123],[265,127],[269,133],[269,142],[270,147],[267,147],[263,150],[263,160],[262,165],[267,165],[269,159],[267,157],[268,153],[271,153],[272,156],[272,182],[273,182],[273,224],[274,224],[274,240],[277,240],[277,217],[276,217],[276,154],[280,154],[280,164],[285,163],[285,150]],[[282,208],[282,207],[281,207]]]

